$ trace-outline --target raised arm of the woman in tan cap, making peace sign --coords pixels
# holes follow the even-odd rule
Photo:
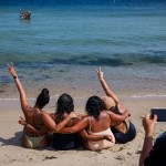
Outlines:
[[[113,93],[113,91],[110,90],[106,81],[104,80],[104,73],[101,71],[101,68],[98,70],[96,69],[96,72],[97,72],[98,80],[100,80],[102,87],[105,91],[106,95],[112,97],[115,103],[118,103],[117,96],[115,95],[115,93]]]

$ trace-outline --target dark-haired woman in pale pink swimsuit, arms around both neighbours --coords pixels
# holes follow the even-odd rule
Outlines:
[[[110,135],[112,142],[107,139],[102,141],[87,141],[84,139],[84,144],[87,149],[97,151],[108,148],[115,144],[114,135],[110,126],[117,125],[128,116],[128,112],[125,111],[122,115],[117,115],[110,111],[104,110],[104,102],[98,96],[91,96],[86,102],[87,115],[81,118],[72,127],[65,127],[60,133],[76,133],[83,129],[91,135]]]

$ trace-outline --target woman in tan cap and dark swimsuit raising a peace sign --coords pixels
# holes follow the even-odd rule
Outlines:
[[[101,71],[101,68],[96,70],[96,72],[102,87],[107,95],[103,97],[105,108],[121,115],[123,112],[125,112],[125,107],[120,103],[117,96],[110,90],[106,81],[104,80],[104,74]],[[136,128],[134,124],[129,122],[129,117],[125,118],[125,121],[117,124],[116,126],[112,126],[111,129],[115,136],[116,142],[121,144],[131,142],[136,136]]]

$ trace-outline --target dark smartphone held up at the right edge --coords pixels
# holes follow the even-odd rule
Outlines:
[[[164,108],[164,107],[153,107],[151,110],[152,118],[155,114],[157,115],[157,122],[166,122],[166,108]]]

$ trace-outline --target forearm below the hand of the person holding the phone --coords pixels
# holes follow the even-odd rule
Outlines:
[[[139,166],[144,165],[145,158],[148,157],[149,152],[153,149],[153,136],[146,135],[144,138],[144,145],[139,157]]]

